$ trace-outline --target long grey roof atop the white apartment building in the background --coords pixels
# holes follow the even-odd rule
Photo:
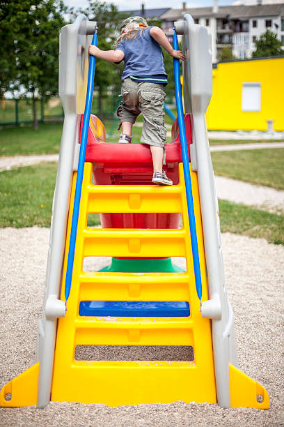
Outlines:
[[[218,12],[212,12],[212,8],[186,8],[168,9],[160,16],[161,20],[175,21],[184,16],[184,13],[189,13],[192,17],[228,17],[231,19],[262,17],[262,16],[278,16],[284,15],[284,3],[265,4],[255,6],[220,6]]]

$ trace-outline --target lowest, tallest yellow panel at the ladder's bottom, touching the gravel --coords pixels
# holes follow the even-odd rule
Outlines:
[[[111,406],[177,400],[216,403],[212,370],[197,369],[191,361],[73,361],[65,372],[60,370],[58,364],[53,401]]]

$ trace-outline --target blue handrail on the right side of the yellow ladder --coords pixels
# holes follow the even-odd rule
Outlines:
[[[173,34],[173,49],[178,50],[178,36],[176,31]],[[192,188],[191,188],[191,179],[190,179],[190,170],[189,170],[189,153],[187,151],[187,135],[185,133],[184,125],[184,110],[182,105],[182,87],[180,84],[180,60],[173,59],[173,70],[175,75],[175,100],[177,103],[177,112],[178,112],[178,127],[180,130],[180,145],[182,149],[182,163],[184,167],[184,182],[185,190],[187,193],[187,210],[189,213],[189,228],[191,235],[191,248],[192,248],[192,257],[194,259],[194,276],[196,280],[196,292],[198,298],[201,300],[202,297],[202,283],[200,276],[200,263],[198,255],[198,243],[196,236],[196,221],[194,216],[194,200],[192,197]]]

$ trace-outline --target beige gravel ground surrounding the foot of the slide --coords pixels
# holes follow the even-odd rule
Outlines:
[[[49,229],[0,230],[0,387],[33,363],[42,309]],[[269,410],[223,410],[208,403],[107,407],[49,403],[0,408],[0,426],[283,426],[283,246],[223,234],[228,296],[240,368],[260,382]]]

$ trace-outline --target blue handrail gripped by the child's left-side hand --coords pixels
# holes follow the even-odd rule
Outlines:
[[[97,27],[95,28],[92,45],[97,46]],[[85,165],[85,157],[86,157],[86,147],[87,147],[87,139],[88,139],[88,126],[90,121],[90,109],[92,107],[92,100],[93,100],[94,77],[95,77],[95,57],[93,57],[93,55],[90,55],[89,68],[88,68],[88,87],[87,87],[87,94],[86,94],[86,105],[85,105],[83,129],[82,129],[82,135],[81,135],[81,147],[80,147],[80,154],[79,154],[77,181],[76,181],[71,234],[70,234],[70,245],[69,245],[69,252],[68,252],[66,279],[65,279],[65,300],[66,301],[68,300],[70,290],[71,290],[74,253],[75,253],[78,217],[79,217],[80,200],[81,200],[81,189],[82,189],[82,181],[83,181],[84,165]]]

